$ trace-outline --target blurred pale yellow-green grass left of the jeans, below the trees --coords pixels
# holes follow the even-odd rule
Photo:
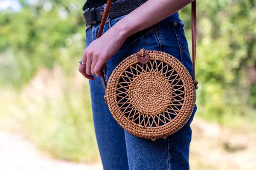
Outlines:
[[[5,89],[0,118],[9,125],[1,128],[24,133],[55,158],[99,161],[89,85],[79,76],[64,77],[58,68],[53,73],[41,69],[22,92]]]

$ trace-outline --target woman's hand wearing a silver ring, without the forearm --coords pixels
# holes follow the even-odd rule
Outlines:
[[[110,28],[85,48],[81,61],[86,65],[80,64],[79,72],[87,79],[94,79],[91,74],[100,77],[102,67],[121,48],[125,39],[122,29],[117,26]]]

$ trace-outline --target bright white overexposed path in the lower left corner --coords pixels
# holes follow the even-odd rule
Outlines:
[[[49,158],[18,133],[0,132],[1,170],[102,170],[101,165],[84,165]]]

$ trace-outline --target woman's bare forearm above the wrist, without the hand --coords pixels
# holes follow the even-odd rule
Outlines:
[[[111,29],[127,38],[136,32],[159,23],[187,6],[193,0],[148,0],[139,8],[119,20]]]

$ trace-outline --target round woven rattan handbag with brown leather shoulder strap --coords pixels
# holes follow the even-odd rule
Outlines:
[[[112,0],[108,0],[97,38],[102,35]],[[180,130],[195,107],[196,3],[192,2],[193,77],[175,57],[142,49],[112,72],[106,103],[116,122],[134,136],[164,138]]]

